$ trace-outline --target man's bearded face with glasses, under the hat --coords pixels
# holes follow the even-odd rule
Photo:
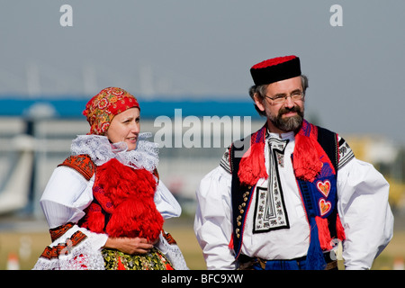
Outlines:
[[[290,96],[302,91],[301,76],[278,81],[267,86],[266,96],[276,98]],[[304,114],[304,98],[293,100],[287,97],[284,103],[275,103],[267,97],[260,99],[255,96],[257,107],[266,112],[267,127],[273,133],[285,133],[301,128]]]

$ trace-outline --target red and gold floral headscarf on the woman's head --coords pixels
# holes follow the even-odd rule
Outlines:
[[[85,105],[83,114],[90,124],[87,134],[103,135],[115,115],[133,107],[139,108],[139,103],[127,91],[118,87],[103,89]]]

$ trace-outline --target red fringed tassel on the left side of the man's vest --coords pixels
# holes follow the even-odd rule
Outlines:
[[[241,184],[254,185],[260,178],[267,178],[265,142],[254,143],[240,160],[238,177]]]

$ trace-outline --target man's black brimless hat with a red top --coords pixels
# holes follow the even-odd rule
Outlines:
[[[301,76],[300,58],[290,55],[267,59],[250,68],[255,85],[266,85]]]

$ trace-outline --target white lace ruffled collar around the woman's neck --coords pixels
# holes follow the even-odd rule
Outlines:
[[[106,136],[78,135],[72,141],[72,155],[85,154],[92,158],[96,166],[101,166],[112,158],[119,160],[123,165],[136,169],[145,168],[149,172],[157,167],[158,144],[146,139],[152,133],[139,133],[137,148],[127,151],[125,142],[111,143]]]

